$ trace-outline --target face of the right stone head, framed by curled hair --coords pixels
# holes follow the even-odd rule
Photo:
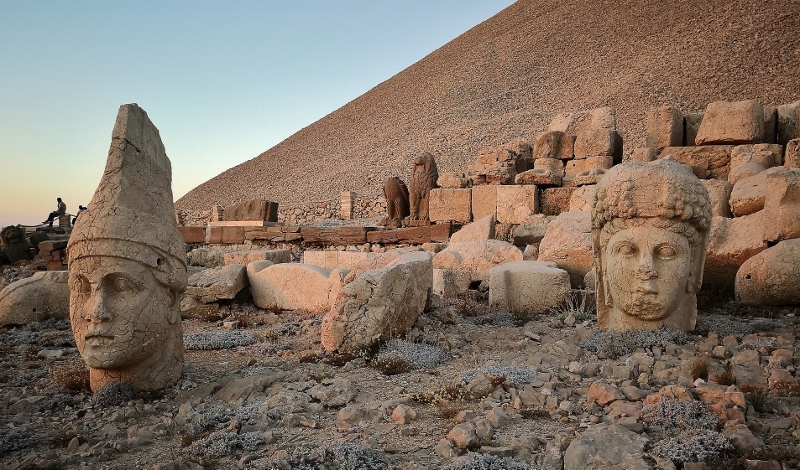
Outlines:
[[[650,225],[620,230],[605,259],[612,316],[662,320],[689,295],[691,247],[683,235]]]

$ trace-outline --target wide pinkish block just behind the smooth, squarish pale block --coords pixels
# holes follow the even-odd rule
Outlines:
[[[450,243],[433,257],[435,269],[469,271],[473,281],[489,279],[489,270],[510,261],[522,261],[522,251],[501,240],[468,240]]]

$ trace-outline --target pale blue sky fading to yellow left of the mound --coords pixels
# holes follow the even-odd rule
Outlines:
[[[89,203],[121,104],[177,200],[512,3],[0,0],[0,227]]]

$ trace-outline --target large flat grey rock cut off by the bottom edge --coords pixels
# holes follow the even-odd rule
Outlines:
[[[648,439],[624,426],[590,426],[570,442],[564,453],[564,470],[650,470],[644,448]]]

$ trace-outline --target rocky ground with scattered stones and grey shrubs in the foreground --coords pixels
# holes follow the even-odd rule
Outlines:
[[[725,304],[697,334],[610,337],[584,308],[529,318],[484,297],[349,357],[322,352],[319,314],[234,305],[184,321],[184,375],[148,395],[93,396],[66,320],[0,329],[0,467],[800,465],[793,309]]]

